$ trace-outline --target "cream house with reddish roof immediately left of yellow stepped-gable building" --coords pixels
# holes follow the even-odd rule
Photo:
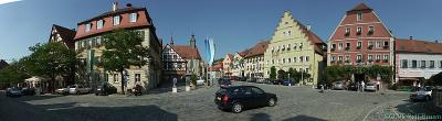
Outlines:
[[[264,52],[269,47],[269,41],[260,42],[245,54],[244,70],[245,77],[264,77]]]

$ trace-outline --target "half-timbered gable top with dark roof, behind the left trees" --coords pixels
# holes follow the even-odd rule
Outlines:
[[[66,47],[74,50],[75,48],[74,37],[75,37],[75,30],[70,30],[64,26],[53,24],[49,42],[62,42]]]

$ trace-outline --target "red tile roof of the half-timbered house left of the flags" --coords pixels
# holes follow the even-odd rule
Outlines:
[[[201,59],[200,52],[198,48],[193,48],[189,45],[170,45],[175,52],[178,53],[183,59]]]

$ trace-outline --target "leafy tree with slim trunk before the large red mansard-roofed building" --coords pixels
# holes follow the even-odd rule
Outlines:
[[[145,66],[149,58],[149,48],[143,46],[144,33],[134,30],[115,30],[103,36],[105,48],[99,66],[107,72],[122,75],[122,94],[124,91],[124,70],[129,66]]]

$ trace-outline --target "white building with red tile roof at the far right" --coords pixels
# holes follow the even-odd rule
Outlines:
[[[442,44],[396,40],[396,82],[417,86],[442,72]]]

